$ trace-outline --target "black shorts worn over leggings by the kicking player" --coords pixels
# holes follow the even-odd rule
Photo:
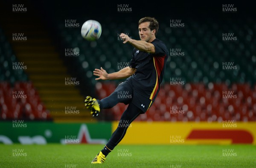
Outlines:
[[[125,105],[132,103],[140,108],[143,113],[153,104],[152,100],[134,91],[134,86],[129,80],[120,83],[114,94],[117,95],[119,103],[124,103]]]

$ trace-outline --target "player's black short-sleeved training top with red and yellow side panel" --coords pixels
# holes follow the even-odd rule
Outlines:
[[[161,40],[154,39],[151,43],[155,47],[154,54],[134,48],[130,67],[137,70],[127,80],[131,80],[134,91],[154,101],[163,80],[169,52]]]

